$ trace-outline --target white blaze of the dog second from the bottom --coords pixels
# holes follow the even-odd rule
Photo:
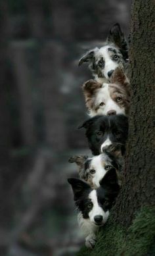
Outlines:
[[[91,160],[90,169],[95,170],[95,174],[93,174],[92,182],[97,187],[100,186],[100,180],[104,177],[106,174],[106,170],[104,169],[104,166],[102,165],[102,155],[97,155],[96,157],[93,157]]]

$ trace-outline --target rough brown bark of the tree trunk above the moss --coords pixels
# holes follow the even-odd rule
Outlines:
[[[126,168],[114,221],[129,226],[136,211],[155,204],[154,1],[133,0],[131,7],[131,111]]]

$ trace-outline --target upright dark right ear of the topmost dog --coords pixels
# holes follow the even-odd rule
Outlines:
[[[108,34],[107,42],[117,45],[120,48],[124,59],[128,59],[128,45],[120,28],[120,24],[116,23],[112,26]]]

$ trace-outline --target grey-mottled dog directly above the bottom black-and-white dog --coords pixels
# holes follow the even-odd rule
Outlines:
[[[95,157],[75,155],[70,157],[68,162],[78,165],[79,178],[85,180],[91,188],[99,188],[100,180],[111,169],[116,170],[119,177],[119,184],[121,185],[124,159],[122,156],[122,144],[120,143],[108,146],[102,154]]]

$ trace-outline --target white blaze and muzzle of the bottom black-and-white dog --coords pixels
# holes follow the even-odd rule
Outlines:
[[[91,199],[91,202],[93,203],[93,209],[89,212],[90,220],[95,222],[94,217],[96,215],[101,215],[103,218],[102,223],[105,223],[109,216],[109,211],[104,212],[102,207],[100,207],[97,200],[97,190],[92,190],[91,193],[89,193],[89,199]]]

